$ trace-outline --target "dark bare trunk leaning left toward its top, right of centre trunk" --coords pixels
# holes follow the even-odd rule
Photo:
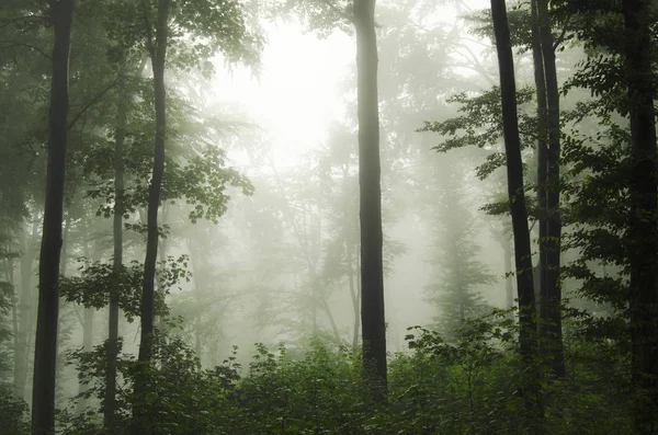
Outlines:
[[[519,341],[521,357],[530,370],[530,378],[524,391],[530,408],[529,425],[535,426],[535,416],[541,409],[536,379],[536,324],[534,321],[535,298],[532,277],[532,260],[530,249],[530,231],[527,229],[527,210],[523,191],[523,164],[521,160],[521,141],[519,138],[519,119],[517,113],[517,83],[514,79],[514,59],[510,43],[510,30],[504,0],[491,0],[491,18],[496,35],[496,49],[500,69],[500,96],[502,103],[502,128],[508,175],[508,195],[514,232],[514,263],[517,267],[517,288],[519,291]]]

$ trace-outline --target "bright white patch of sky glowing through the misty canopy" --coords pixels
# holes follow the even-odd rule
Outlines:
[[[355,61],[351,36],[336,33],[318,41],[294,22],[271,25],[260,78],[245,69],[220,71],[214,79],[217,102],[242,107],[268,130],[276,164],[295,164],[317,147],[333,119],[342,117],[340,83]]]

